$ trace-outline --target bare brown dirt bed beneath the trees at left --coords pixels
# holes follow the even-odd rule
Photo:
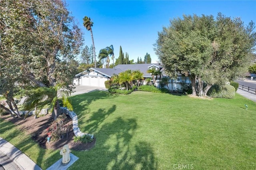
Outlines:
[[[31,138],[44,149],[58,150],[61,149],[64,145],[68,144],[71,150],[89,150],[96,143],[95,138],[92,143],[74,143],[75,135],[73,132],[72,119],[69,116],[67,116],[67,120],[64,122],[64,125],[69,129],[68,133],[64,135],[63,139],[58,141],[50,141],[50,143],[47,143],[47,128],[52,122],[50,114],[39,117],[37,119],[34,118],[34,115],[29,116],[26,119],[24,119],[24,117],[13,119],[10,117],[10,115],[1,116],[1,118],[7,121],[11,121],[15,125],[19,126],[18,129],[24,131],[27,135],[30,135]]]

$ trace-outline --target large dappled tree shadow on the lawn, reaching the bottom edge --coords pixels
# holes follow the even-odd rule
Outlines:
[[[138,127],[136,119],[116,118],[111,123],[104,123],[110,113],[116,109],[113,105],[107,111],[98,109],[90,117],[85,129],[96,132],[96,146],[88,152],[76,152],[80,158],[86,157],[86,162],[79,159],[72,169],[146,169],[156,170],[157,162],[154,157],[154,151],[146,141],[132,141],[133,135]],[[100,114],[100,117],[97,116]],[[99,127],[101,125],[101,127]],[[92,166],[90,166],[92,165]]]

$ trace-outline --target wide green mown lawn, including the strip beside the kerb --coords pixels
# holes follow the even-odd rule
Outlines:
[[[72,151],[79,159],[71,170],[166,170],[174,164],[192,164],[196,170],[256,169],[256,103],[239,94],[208,100],[96,91],[71,100],[80,130],[96,137],[91,150]],[[20,132],[10,123],[2,121],[0,130],[1,137],[43,169],[61,158],[58,151],[42,150],[29,137],[19,140]]]

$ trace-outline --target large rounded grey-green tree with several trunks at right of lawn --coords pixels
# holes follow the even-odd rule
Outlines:
[[[184,15],[170,20],[154,44],[170,76],[182,74],[192,82],[193,96],[206,96],[213,84],[222,85],[246,72],[255,51],[254,23],[218,14]],[[198,82],[198,83],[196,83]]]

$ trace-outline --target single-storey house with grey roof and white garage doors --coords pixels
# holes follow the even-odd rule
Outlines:
[[[146,78],[152,78],[152,75],[147,72],[148,69],[158,69],[162,71],[162,77],[167,76],[164,74],[164,68],[162,65],[158,63],[153,64],[119,64],[115,66],[115,68],[90,68],[89,70],[80,72],[76,74],[76,78],[74,79],[74,84],[83,85],[83,86],[98,86],[105,87],[105,81],[110,80],[110,78],[114,74],[119,74],[120,72],[124,72],[126,70],[140,70],[143,73],[144,80]],[[153,80],[152,80],[153,81]],[[189,78],[185,78],[182,76],[178,76],[176,80],[170,80],[170,84],[168,85],[171,90],[177,90],[180,88],[180,82],[190,83]],[[143,82],[146,84],[146,82]],[[156,86],[159,86],[159,78],[156,80]],[[167,88],[167,87],[166,87]]]

